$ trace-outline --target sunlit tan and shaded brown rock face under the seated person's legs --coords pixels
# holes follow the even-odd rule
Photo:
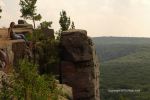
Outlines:
[[[3,49],[7,55],[8,55],[8,60],[9,64],[8,67],[10,66],[15,66],[17,65],[17,62],[21,59],[24,58],[25,56],[25,50],[26,50],[26,44],[25,41],[20,39],[20,40],[0,40],[0,49]],[[7,68],[6,68],[7,69]]]

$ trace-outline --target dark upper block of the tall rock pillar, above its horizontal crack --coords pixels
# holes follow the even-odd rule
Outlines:
[[[61,34],[62,60],[83,62],[92,60],[87,32],[84,30],[70,30]]]

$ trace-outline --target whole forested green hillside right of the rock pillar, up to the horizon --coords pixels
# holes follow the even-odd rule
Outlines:
[[[150,100],[150,39],[100,37],[94,42],[101,59],[101,100]],[[140,92],[108,91],[120,89]]]

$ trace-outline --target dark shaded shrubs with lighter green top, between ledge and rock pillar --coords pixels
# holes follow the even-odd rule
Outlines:
[[[40,71],[47,72],[59,63],[59,40],[48,37],[43,31],[35,29],[29,40],[36,41],[35,60],[39,64]]]

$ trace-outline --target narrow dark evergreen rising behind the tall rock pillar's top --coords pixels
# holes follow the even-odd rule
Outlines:
[[[66,11],[60,12],[60,20],[59,24],[61,26],[61,31],[66,31],[69,29],[70,26],[70,17],[67,16]]]

